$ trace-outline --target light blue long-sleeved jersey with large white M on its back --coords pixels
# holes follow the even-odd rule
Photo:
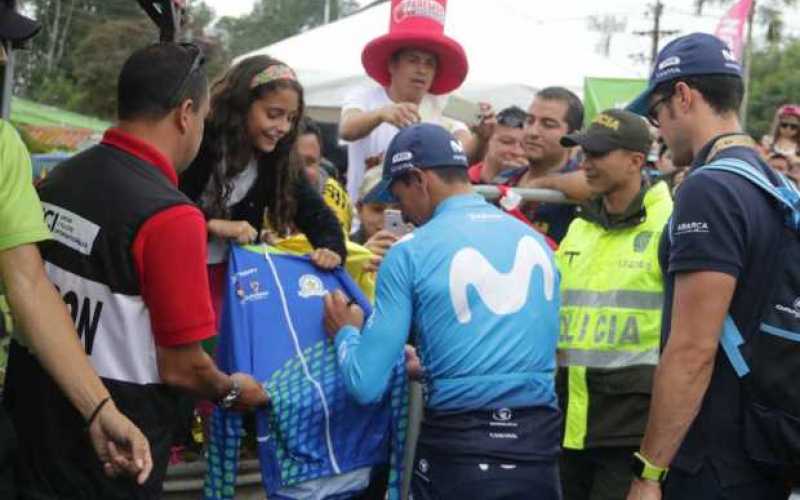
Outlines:
[[[387,253],[363,331],[338,332],[347,387],[380,400],[411,334],[429,410],[555,409],[558,287],[542,236],[480,196],[450,197]]]

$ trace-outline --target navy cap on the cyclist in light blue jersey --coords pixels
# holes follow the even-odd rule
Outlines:
[[[392,182],[412,168],[463,167],[467,155],[453,135],[439,125],[418,123],[394,136],[383,158],[381,181],[364,197],[364,203],[397,203]]]

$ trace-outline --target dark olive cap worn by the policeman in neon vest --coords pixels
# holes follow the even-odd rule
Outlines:
[[[581,146],[592,153],[607,153],[626,149],[647,154],[653,144],[644,119],[630,111],[608,109],[597,115],[585,132],[575,132],[561,138],[561,145]]]

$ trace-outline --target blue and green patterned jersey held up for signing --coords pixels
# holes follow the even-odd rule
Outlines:
[[[218,364],[264,382],[270,406],[256,412],[258,456],[269,498],[332,498],[356,493],[369,468],[391,462],[390,498],[399,494],[405,440],[402,354],[390,370],[391,395],[364,406],[345,389],[323,330],[322,298],[342,290],[369,302],[343,269],[325,272],[306,257],[232,247]],[[233,498],[241,417],[217,410],[209,444],[206,498]],[[391,455],[391,460],[390,460]],[[325,482],[314,481],[328,478]],[[317,493],[303,493],[311,486]]]

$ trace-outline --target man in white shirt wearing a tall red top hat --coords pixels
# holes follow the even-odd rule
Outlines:
[[[488,134],[473,135],[461,122],[442,115],[437,96],[457,89],[469,65],[461,45],[444,34],[447,0],[392,0],[389,33],[364,47],[361,62],[380,87],[361,88],[345,99],[339,136],[347,148],[347,191],[358,188],[369,166],[381,157],[400,128],[436,123],[458,138],[472,159]],[[481,129],[491,127],[491,107],[481,106]],[[488,130],[487,130],[488,131]]]

